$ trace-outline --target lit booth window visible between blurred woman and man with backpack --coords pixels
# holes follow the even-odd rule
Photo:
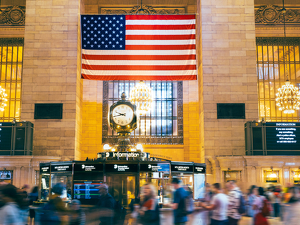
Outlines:
[[[159,204],[164,202],[164,196],[169,188],[167,186],[170,184],[169,174],[164,174],[162,172],[141,172],[140,173],[140,190],[147,184],[151,183],[154,185],[157,191],[157,200]]]

